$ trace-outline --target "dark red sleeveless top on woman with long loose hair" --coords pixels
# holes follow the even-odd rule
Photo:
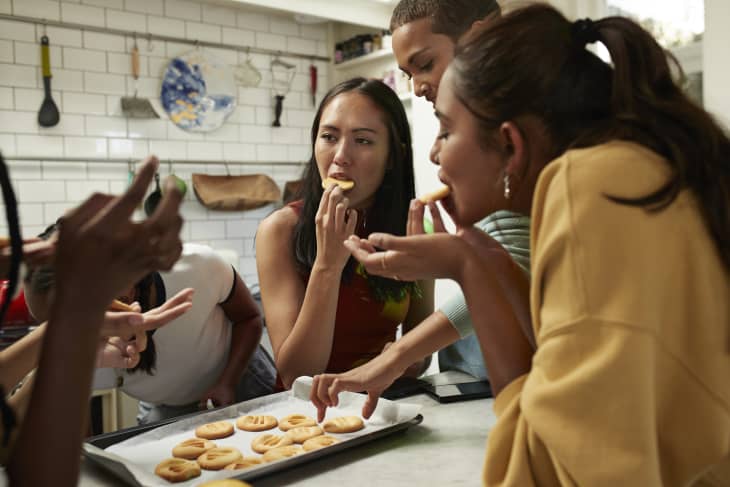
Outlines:
[[[290,203],[301,214],[302,201]],[[304,276],[305,283],[309,276]],[[350,282],[340,283],[335,314],[335,333],[326,372],[353,369],[379,355],[386,343],[395,340],[396,328],[405,319],[410,295],[396,302],[378,301],[370,291],[367,274],[358,264]]]

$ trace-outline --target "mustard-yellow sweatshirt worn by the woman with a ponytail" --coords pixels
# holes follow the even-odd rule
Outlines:
[[[487,486],[685,486],[730,455],[730,284],[666,164],[616,142],[551,162],[533,203],[532,369],[496,398]],[[728,485],[730,485],[730,479]]]

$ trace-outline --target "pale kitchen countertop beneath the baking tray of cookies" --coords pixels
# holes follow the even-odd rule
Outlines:
[[[422,405],[423,422],[405,432],[257,479],[253,485],[481,485],[487,433],[496,421],[494,400],[439,404],[419,394],[399,402]],[[82,462],[80,486],[120,484],[107,472]]]

